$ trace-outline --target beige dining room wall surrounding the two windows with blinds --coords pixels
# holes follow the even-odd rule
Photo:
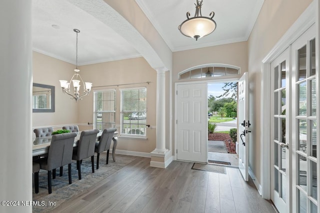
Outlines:
[[[79,66],[84,81],[92,82],[93,88],[89,96],[77,103],[77,117],[79,124],[93,123],[93,91],[101,89],[115,89],[116,95],[116,128],[120,131],[120,88],[143,87],[147,88],[147,140],[126,139],[119,137],[118,150],[149,153],[155,149],[156,126],[156,71],[142,58],[111,61],[105,63]],[[150,84],[143,83],[150,81]],[[130,83],[141,83],[121,85]],[[119,85],[119,86],[108,86]],[[100,87],[104,86],[104,87]],[[83,126],[82,128],[88,128]],[[92,128],[92,127],[91,127]]]

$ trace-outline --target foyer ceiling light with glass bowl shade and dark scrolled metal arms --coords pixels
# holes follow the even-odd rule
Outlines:
[[[203,36],[206,36],[214,31],[216,27],[215,21],[212,19],[214,16],[214,12],[210,12],[209,15],[211,17],[205,17],[201,14],[201,6],[202,1],[199,2],[199,0],[196,0],[195,5],[195,13],[194,17],[189,17],[190,12],[186,12],[186,20],[183,21],[179,26],[178,29],[180,32],[188,37],[195,38],[195,40],[198,40],[198,38],[201,38]]]

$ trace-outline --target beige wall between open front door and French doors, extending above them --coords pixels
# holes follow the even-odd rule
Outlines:
[[[249,117],[253,128],[249,166],[260,184],[261,61],[310,3],[311,0],[265,0],[248,39]]]

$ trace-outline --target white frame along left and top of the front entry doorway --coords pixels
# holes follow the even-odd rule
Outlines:
[[[183,81],[183,82],[175,82],[174,83],[174,156],[173,159],[177,160],[177,155],[176,155],[176,150],[177,150],[177,95],[176,95],[176,91],[177,91],[177,86],[181,85],[181,84],[194,84],[194,83],[224,83],[224,82],[232,82],[232,81],[238,81],[239,78],[241,77],[243,73],[240,73],[238,77],[232,77],[232,78],[218,78],[218,79],[208,79],[208,80],[193,80],[193,81]],[[205,112],[207,114],[207,112]]]

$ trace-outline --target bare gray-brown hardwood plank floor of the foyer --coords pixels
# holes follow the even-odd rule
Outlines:
[[[193,163],[173,161],[166,169],[136,160],[62,203],[68,213],[274,213],[252,182],[238,169],[226,174],[192,170]]]

